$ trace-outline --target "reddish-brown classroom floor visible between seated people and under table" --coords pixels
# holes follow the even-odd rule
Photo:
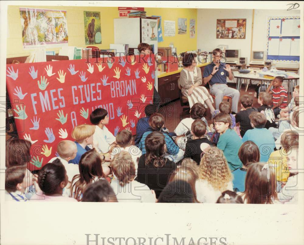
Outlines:
[[[232,87],[232,88],[236,87],[235,83],[228,83],[228,86]],[[246,89],[245,84],[242,84],[241,91],[240,91],[240,97],[243,96],[244,94],[248,94],[248,95],[254,97],[255,87],[256,87],[256,85],[250,85],[247,89],[247,92],[245,92],[245,89]],[[231,103],[231,101],[230,101],[230,103]],[[215,107],[215,101],[213,103],[213,106]],[[253,107],[257,108],[259,106],[260,105],[257,103],[257,98],[254,97]],[[240,109],[241,109],[241,104],[239,102],[238,110],[240,111]],[[170,104],[163,106],[163,110],[165,112],[165,115],[167,115],[165,127],[168,128],[169,131],[174,131],[174,129],[177,127],[177,125],[181,121],[179,119],[179,114],[182,112],[180,100],[179,99],[174,100]],[[188,117],[190,117],[190,115]],[[186,118],[186,117],[184,117],[184,118]],[[209,108],[207,108],[205,118],[207,119],[208,124],[212,123],[211,122],[211,113],[210,113]]]

